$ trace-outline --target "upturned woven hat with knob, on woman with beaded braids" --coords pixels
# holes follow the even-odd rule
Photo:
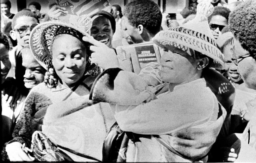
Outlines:
[[[76,24],[61,21],[50,21],[38,24],[30,33],[29,46],[37,62],[46,70],[51,62],[53,38],[59,34],[70,34],[79,38],[88,36],[92,20],[87,15],[77,18]]]

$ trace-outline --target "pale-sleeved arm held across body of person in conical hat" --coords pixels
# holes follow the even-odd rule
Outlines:
[[[216,102],[213,96],[210,89],[184,88],[137,106],[116,105],[115,118],[124,131],[167,134],[209,121]]]

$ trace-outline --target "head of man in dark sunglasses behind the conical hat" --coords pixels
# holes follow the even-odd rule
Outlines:
[[[222,33],[222,29],[227,26],[230,10],[226,7],[216,6],[211,16],[208,17],[212,35],[217,39]]]

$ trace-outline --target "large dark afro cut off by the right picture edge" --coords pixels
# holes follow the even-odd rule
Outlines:
[[[240,3],[229,16],[229,29],[241,46],[250,54],[256,54],[256,1]]]

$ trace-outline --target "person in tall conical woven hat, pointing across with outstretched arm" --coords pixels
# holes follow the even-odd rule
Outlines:
[[[94,44],[93,61],[110,68],[95,80],[90,99],[109,102],[121,130],[135,133],[117,161],[122,156],[127,162],[207,161],[227,112],[206,87],[203,71],[223,69],[224,57],[208,25],[213,6],[200,3],[197,10],[195,19],[152,39],[165,51],[160,77],[169,83],[169,91],[157,96],[140,76],[122,71],[117,62],[100,62],[101,44],[84,37]],[[231,153],[226,161],[234,161],[231,157],[237,155]]]

